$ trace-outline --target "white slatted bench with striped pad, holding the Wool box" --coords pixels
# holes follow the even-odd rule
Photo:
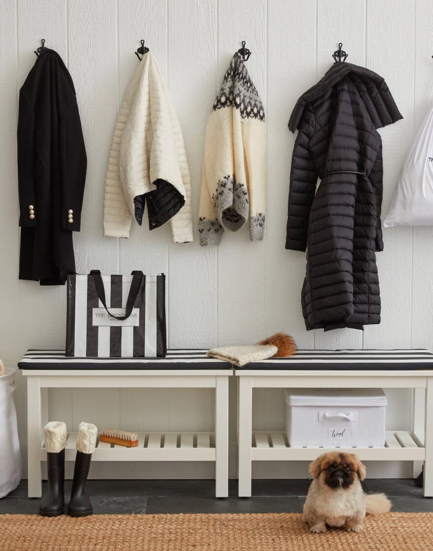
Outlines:
[[[252,461],[312,461],[324,451],[319,446],[290,447],[283,432],[253,432],[253,388],[424,389],[425,430],[389,431],[383,448],[341,450],[355,452],[361,461],[424,461],[424,496],[433,496],[433,354],[429,350],[299,350],[291,358],[236,368],[235,374],[240,496],[251,496]]]

